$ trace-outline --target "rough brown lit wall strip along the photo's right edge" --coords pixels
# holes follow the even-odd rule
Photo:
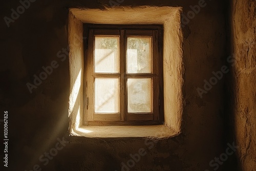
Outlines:
[[[239,146],[239,170],[256,168],[256,2],[230,1],[230,55],[234,60],[226,82],[229,126]]]

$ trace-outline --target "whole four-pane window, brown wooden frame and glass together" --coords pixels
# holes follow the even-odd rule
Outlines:
[[[162,26],[84,24],[84,37],[83,124],[162,124]]]

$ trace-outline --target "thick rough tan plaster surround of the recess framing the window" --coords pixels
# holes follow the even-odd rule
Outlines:
[[[170,137],[181,132],[183,112],[183,35],[180,27],[180,7],[122,7],[99,9],[70,9],[70,127],[71,135],[86,137]],[[127,17],[129,16],[129,17]],[[161,24],[163,35],[164,124],[150,126],[83,126],[82,24]],[[78,42],[78,44],[77,44]],[[78,74],[79,73],[79,74]],[[80,82],[80,83],[78,83]],[[127,133],[128,132],[128,133]]]

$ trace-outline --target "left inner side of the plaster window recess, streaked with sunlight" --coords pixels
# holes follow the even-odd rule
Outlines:
[[[76,19],[74,15],[69,14],[69,42],[70,53],[70,97],[69,97],[69,118],[71,120],[69,127],[78,127],[82,119],[78,120],[75,124],[76,118],[82,114],[83,106],[83,65],[84,61],[81,57],[83,54],[83,26],[80,20]],[[72,73],[72,74],[71,74]],[[73,123],[73,124],[72,124]],[[71,130],[71,129],[70,129]],[[73,129],[72,129],[73,130]]]

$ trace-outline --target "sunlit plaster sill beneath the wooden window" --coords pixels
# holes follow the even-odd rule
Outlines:
[[[139,125],[139,126],[81,126],[72,129],[71,136],[87,138],[120,138],[120,137],[150,137],[166,138],[177,133],[165,125]]]

